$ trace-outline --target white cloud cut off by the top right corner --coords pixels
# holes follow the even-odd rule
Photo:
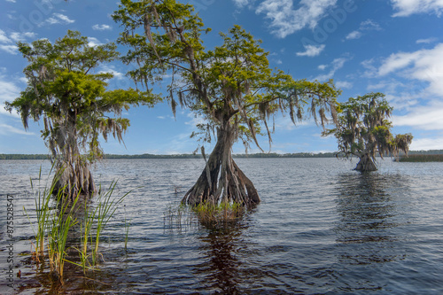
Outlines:
[[[391,0],[394,17],[407,17],[414,13],[436,13],[438,16],[443,12],[442,0]]]

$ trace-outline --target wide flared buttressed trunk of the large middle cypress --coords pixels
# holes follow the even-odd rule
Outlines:
[[[202,203],[235,202],[244,206],[260,203],[253,182],[232,159],[231,147],[234,143],[233,128],[219,128],[217,144],[206,160],[206,167],[198,181],[188,190],[182,203],[198,206]]]

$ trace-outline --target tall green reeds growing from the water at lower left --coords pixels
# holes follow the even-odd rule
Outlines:
[[[35,244],[32,243],[35,251],[31,251],[32,256],[37,264],[49,261],[51,273],[58,277],[59,283],[64,282],[65,262],[82,267],[84,274],[87,269],[97,269],[103,230],[128,195],[112,198],[115,185],[116,182],[113,182],[107,192],[95,198],[95,206],[87,198],[83,200],[81,195],[77,195],[74,200],[66,198],[63,190],[58,190],[58,194],[54,195],[53,185],[50,189],[45,188],[43,192],[39,190],[35,194],[36,224],[27,215],[35,233]],[[32,182],[31,186],[34,190]],[[78,205],[82,203],[80,199],[84,206]],[[26,208],[24,210],[27,213]],[[129,226],[125,220],[125,249]],[[74,236],[74,242],[70,240],[67,243],[69,234]],[[69,248],[79,252],[79,263],[67,259]]]

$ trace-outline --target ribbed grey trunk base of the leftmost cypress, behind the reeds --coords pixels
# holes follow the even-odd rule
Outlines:
[[[69,162],[58,162],[53,180],[53,193],[62,193],[67,198],[81,195],[84,198],[93,196],[97,190],[90,173],[90,164],[82,159]]]

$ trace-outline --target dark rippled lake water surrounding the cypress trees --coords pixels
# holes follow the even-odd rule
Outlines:
[[[69,278],[67,293],[441,294],[443,163],[379,163],[361,175],[338,159],[237,159],[262,203],[229,227],[166,216],[197,180],[197,159],[108,160],[96,169],[114,195],[132,192],[105,231],[96,281]],[[33,237],[23,206],[43,161],[0,161],[0,293],[8,267],[5,194],[14,197],[16,293],[51,283],[19,252]],[[44,177],[43,177],[44,178]],[[175,191],[178,190],[178,193]],[[31,212],[32,213],[32,212]],[[131,220],[128,252],[123,222]]]

